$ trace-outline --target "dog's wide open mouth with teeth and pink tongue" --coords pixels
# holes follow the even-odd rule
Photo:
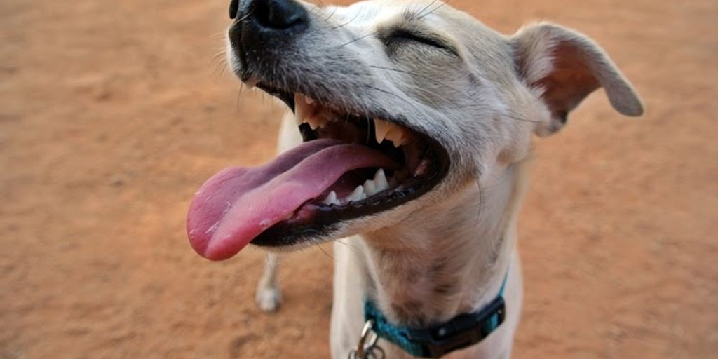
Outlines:
[[[294,111],[304,142],[264,166],[225,169],[202,185],[190,205],[187,233],[205,258],[230,258],[248,243],[279,247],[333,239],[342,222],[414,200],[447,173],[447,151],[398,121],[258,87]]]

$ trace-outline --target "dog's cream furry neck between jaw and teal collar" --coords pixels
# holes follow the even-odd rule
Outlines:
[[[513,165],[470,182],[446,201],[399,225],[363,235],[365,293],[400,325],[425,326],[488,304],[513,249],[523,175]]]

